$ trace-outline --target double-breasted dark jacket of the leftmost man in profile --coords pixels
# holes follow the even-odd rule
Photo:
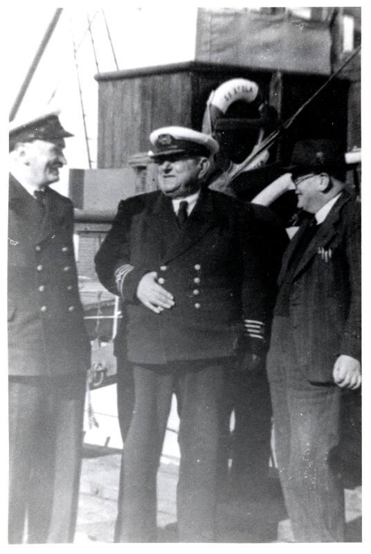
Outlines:
[[[73,205],[52,189],[44,202],[40,207],[10,175],[10,375],[66,375],[86,371],[90,363],[73,252]]]

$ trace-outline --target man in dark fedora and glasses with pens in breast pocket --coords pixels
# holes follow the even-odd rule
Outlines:
[[[361,385],[361,215],[329,139],[293,149],[291,179],[308,216],[282,260],[268,375],[275,447],[296,542],[343,542],[341,400]]]

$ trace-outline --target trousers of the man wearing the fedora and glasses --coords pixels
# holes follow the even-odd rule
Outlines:
[[[343,542],[343,484],[330,463],[340,440],[341,388],[307,381],[292,337],[289,318],[275,317],[267,368],[284,499],[296,542]]]

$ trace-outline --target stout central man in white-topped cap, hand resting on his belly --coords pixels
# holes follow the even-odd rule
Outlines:
[[[226,370],[238,355],[253,370],[266,349],[284,231],[266,208],[208,188],[219,148],[210,136],[163,127],[150,141],[161,190],[120,202],[96,255],[102,284],[123,298],[118,371],[135,390],[129,425],[121,425],[115,539],[156,542],[156,473],[174,392],[179,539],[213,542]],[[120,413],[125,378],[118,382]]]

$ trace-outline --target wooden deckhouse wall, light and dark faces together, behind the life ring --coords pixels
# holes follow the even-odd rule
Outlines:
[[[228,79],[255,80],[266,100],[272,73],[243,67],[179,64],[145,73],[143,69],[99,78],[98,167],[119,168],[128,158],[150,148],[153,129],[184,125],[201,129],[210,91]],[[325,78],[319,75],[282,73],[280,110],[285,120],[293,114]],[[347,82],[336,80],[303,112],[284,146],[298,136],[346,135]],[[287,148],[285,148],[287,151]]]

